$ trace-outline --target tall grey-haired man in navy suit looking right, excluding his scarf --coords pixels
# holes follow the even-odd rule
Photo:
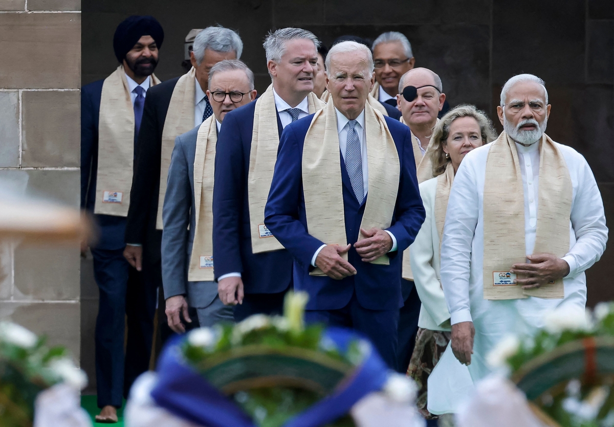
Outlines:
[[[282,129],[309,115],[317,67],[316,36],[300,28],[283,28],[265,40],[273,80],[276,121]],[[213,190],[213,257],[220,299],[235,306],[235,320],[255,313],[281,312],[292,287],[292,257],[286,250],[254,253],[250,228],[248,183],[254,111],[259,99],[229,112],[217,139]],[[262,127],[262,126],[261,126]]]

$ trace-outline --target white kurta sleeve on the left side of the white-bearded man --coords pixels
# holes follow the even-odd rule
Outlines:
[[[469,275],[473,234],[480,212],[473,158],[472,153],[465,156],[454,177],[441,242],[441,285],[452,325],[472,321]]]

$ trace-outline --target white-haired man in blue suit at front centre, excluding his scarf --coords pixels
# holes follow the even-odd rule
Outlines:
[[[389,366],[395,367],[398,310],[403,304],[400,255],[413,242],[425,215],[411,135],[397,120],[379,119],[385,120],[398,153],[398,192],[394,203],[388,201],[394,206],[391,226],[361,229],[369,198],[368,175],[375,172],[369,171],[365,130],[365,115],[375,114],[370,107],[368,111],[365,108],[374,79],[371,52],[356,42],[342,42],[328,53],[326,69],[331,99],[325,110],[333,102],[348,245],[327,245],[309,234],[302,164],[305,136],[313,116],[297,121],[282,134],[265,224],[295,259],[295,289],[309,293],[306,320],[357,329],[371,339]],[[359,231],[365,237],[362,240],[358,240]],[[341,255],[347,255],[347,261]],[[371,263],[381,256],[387,256],[389,265]],[[316,267],[325,275],[310,275]]]

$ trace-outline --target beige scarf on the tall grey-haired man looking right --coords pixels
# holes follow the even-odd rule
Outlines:
[[[324,104],[313,92],[307,95],[309,113]],[[252,252],[270,252],[284,247],[265,226],[265,204],[273,182],[273,171],[279,147],[277,110],[271,84],[258,98],[254,110],[254,131],[247,172],[247,199],[252,232]]]

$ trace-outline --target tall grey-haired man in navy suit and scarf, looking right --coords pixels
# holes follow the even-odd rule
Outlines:
[[[283,28],[264,47],[271,86],[255,102],[228,113],[219,133],[213,191],[213,257],[220,299],[235,320],[281,312],[292,287],[292,256],[264,225],[282,129],[320,108],[313,33]],[[254,131],[256,129],[256,131]]]

